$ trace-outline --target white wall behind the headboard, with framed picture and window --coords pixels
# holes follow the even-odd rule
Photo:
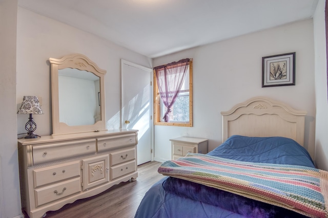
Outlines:
[[[222,142],[220,112],[256,96],[308,111],[304,147],[314,157],[313,40],[313,20],[308,19],[155,58],[154,67],[193,58],[194,120],[194,127],[155,126],[155,160],[170,159],[169,139],[179,136],[208,138],[209,150],[214,149]],[[261,88],[262,57],[289,52],[296,52],[296,85]]]

